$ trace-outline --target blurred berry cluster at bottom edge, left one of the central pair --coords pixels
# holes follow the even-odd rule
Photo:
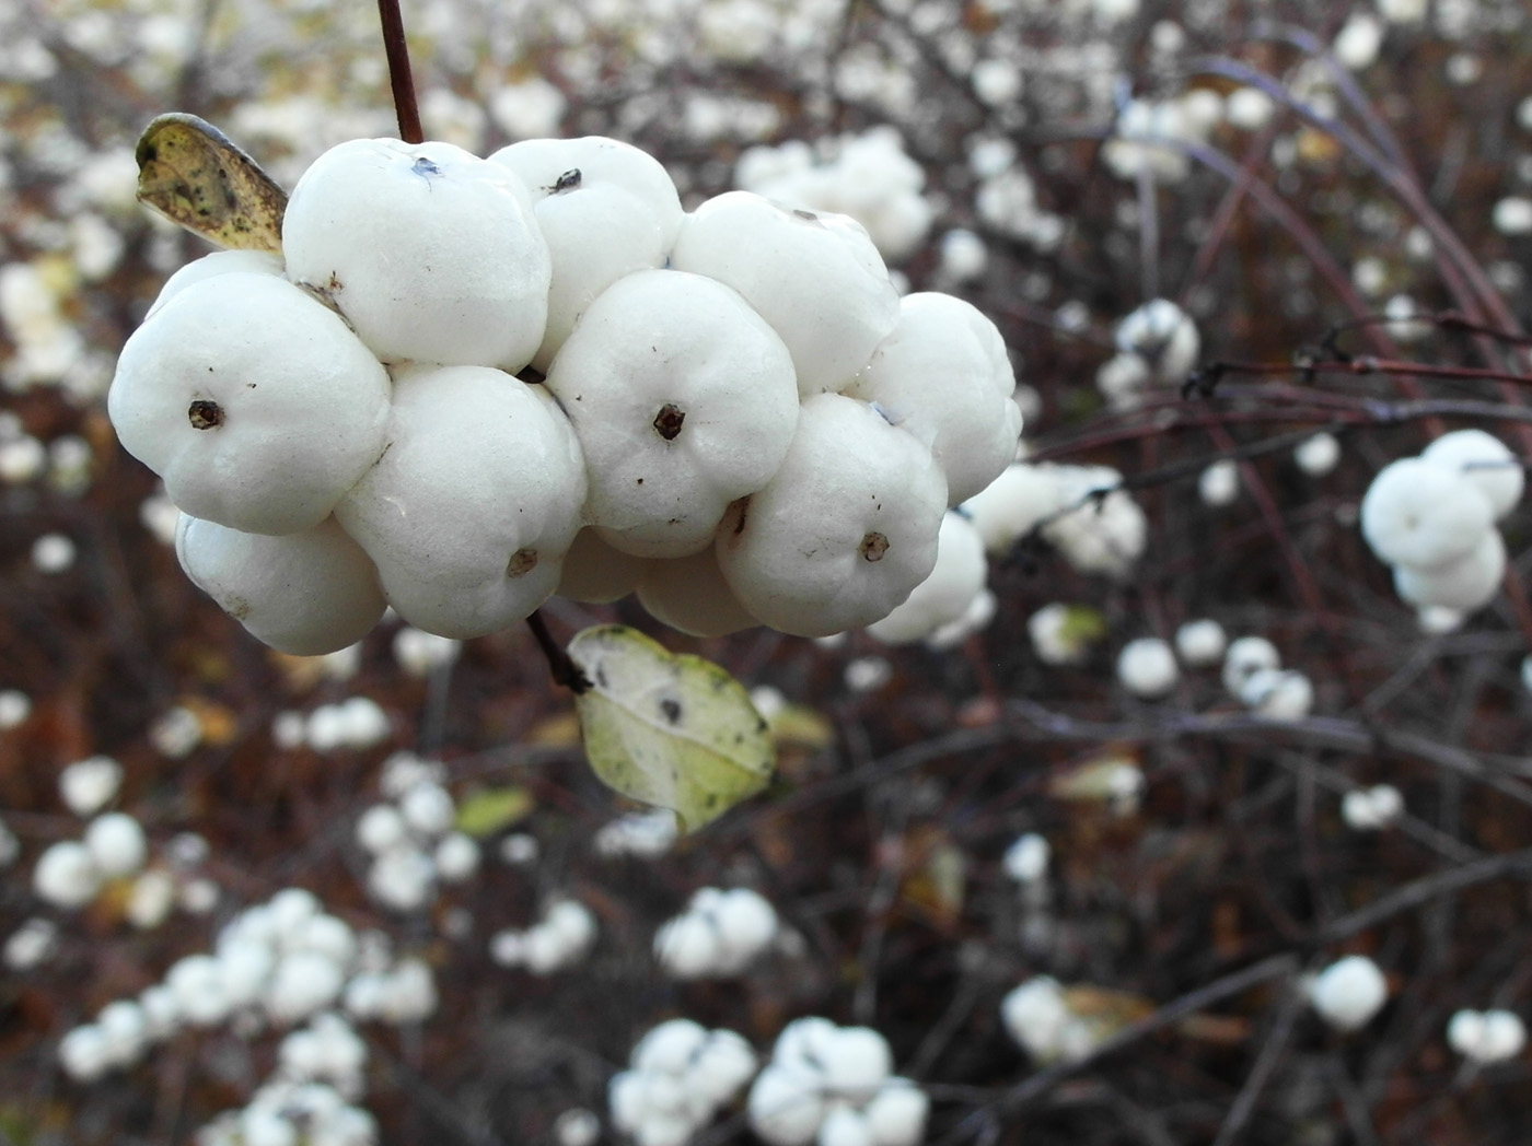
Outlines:
[[[636,1146],[685,1146],[755,1074],[755,1051],[729,1030],[668,1019],[607,1085],[611,1123]]]

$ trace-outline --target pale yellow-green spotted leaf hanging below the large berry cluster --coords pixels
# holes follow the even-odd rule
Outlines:
[[[669,808],[682,831],[696,831],[771,780],[766,721],[719,666],[620,624],[576,633],[568,653],[590,681],[574,702],[585,754],[608,788]]]

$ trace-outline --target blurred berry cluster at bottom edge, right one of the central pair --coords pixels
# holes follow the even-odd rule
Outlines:
[[[878,1031],[807,1017],[783,1028],[746,1106],[768,1146],[915,1146],[930,1099]]]

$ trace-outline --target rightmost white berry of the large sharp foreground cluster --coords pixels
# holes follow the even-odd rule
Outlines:
[[[843,393],[876,402],[928,444],[950,503],[973,497],[1016,456],[1022,412],[1005,340],[971,303],[948,294],[899,300],[899,323]]]

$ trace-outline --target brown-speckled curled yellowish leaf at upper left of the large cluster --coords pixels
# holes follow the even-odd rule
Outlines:
[[[139,202],[219,246],[282,252],[286,191],[213,124],[156,116],[135,156]]]

